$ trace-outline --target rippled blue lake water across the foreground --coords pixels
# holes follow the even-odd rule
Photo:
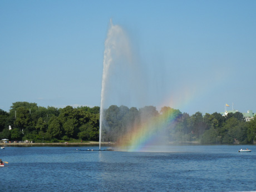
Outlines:
[[[252,152],[238,152],[248,147]],[[256,146],[188,145],[165,152],[6,147],[1,191],[256,191]],[[104,148],[104,147],[102,147]],[[161,146],[158,146],[161,149]]]

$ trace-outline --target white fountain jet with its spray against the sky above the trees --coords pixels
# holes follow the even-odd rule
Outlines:
[[[140,62],[132,52],[129,37],[121,26],[112,24],[105,41],[101,106],[100,106],[100,147],[104,125],[104,109],[110,105],[130,107],[144,105],[146,101],[146,78]],[[102,127],[103,126],[103,127]]]

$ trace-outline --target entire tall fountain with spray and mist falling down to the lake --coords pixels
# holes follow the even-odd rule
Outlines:
[[[149,86],[154,86],[147,80],[147,67],[141,66],[138,52],[133,52],[131,45],[126,31],[110,21],[102,73],[100,149],[102,141],[114,141],[120,146],[129,146],[131,150],[136,150],[137,147],[147,145],[149,138],[157,143],[162,142],[163,136],[166,136],[166,126],[161,123],[163,117],[153,115],[155,107],[145,107],[147,99],[152,95]],[[154,88],[150,91],[154,91]],[[137,110],[136,107],[143,108]],[[137,111],[137,115],[125,116],[124,114],[129,115],[128,111],[131,115],[135,115]],[[123,117],[126,122],[119,124]],[[166,119],[170,120],[168,117]],[[132,145],[136,145],[136,149],[131,148]]]

